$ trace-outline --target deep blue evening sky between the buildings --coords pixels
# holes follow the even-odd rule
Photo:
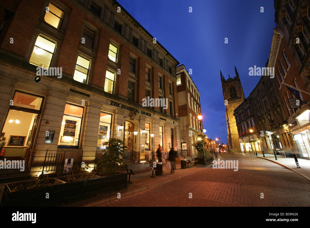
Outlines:
[[[273,1],[118,0],[157,42],[186,69],[193,69],[200,92],[203,127],[209,138],[227,144],[225,106],[219,71],[235,77],[236,65],[245,97],[260,76],[249,67],[264,67],[274,23]],[[188,12],[188,7],[193,12]],[[264,7],[264,12],[260,12]],[[228,44],[224,38],[228,38]]]

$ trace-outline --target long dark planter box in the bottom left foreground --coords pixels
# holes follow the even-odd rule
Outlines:
[[[57,179],[66,181],[66,177],[50,178],[50,181],[56,181]],[[26,182],[7,184],[5,186],[0,205],[3,207],[39,207],[73,203],[75,201],[91,198],[100,194],[126,189],[127,173],[118,173],[107,177],[98,176],[92,179],[12,192],[12,185],[19,186],[25,183]],[[49,193],[49,199],[46,199],[46,193]]]

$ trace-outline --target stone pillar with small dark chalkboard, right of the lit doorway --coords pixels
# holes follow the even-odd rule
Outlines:
[[[41,122],[38,122],[37,139],[35,139],[35,157],[33,164],[43,163],[46,150],[48,152],[56,153],[58,147],[58,140],[60,136],[60,129],[64,117],[64,107],[66,105],[68,95],[56,92],[53,90],[48,91],[48,95],[43,106]],[[48,120],[48,124],[46,123]],[[45,143],[46,131],[55,131],[54,141],[52,144]]]

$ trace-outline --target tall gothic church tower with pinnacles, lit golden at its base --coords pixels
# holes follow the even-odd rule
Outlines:
[[[224,78],[221,71],[221,82],[223,88],[223,97],[225,104],[226,122],[227,122],[227,140],[228,147],[231,152],[241,152],[239,135],[236,125],[236,119],[233,111],[243,102],[244,93],[241,86],[238,71],[235,66],[236,77],[230,78],[228,74],[227,80]]]

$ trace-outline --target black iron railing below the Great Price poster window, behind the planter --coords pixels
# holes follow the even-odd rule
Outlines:
[[[42,174],[44,172],[60,172],[64,170],[64,155],[66,153],[66,150],[64,150],[64,153],[48,153],[48,149],[46,149],[45,159],[43,163],[43,169]]]

